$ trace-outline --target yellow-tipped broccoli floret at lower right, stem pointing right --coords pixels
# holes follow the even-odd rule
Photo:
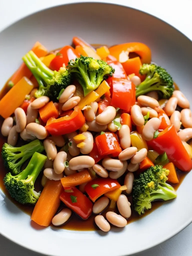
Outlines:
[[[161,165],[150,167],[133,182],[133,205],[138,214],[151,209],[157,199],[170,200],[177,197],[175,189],[166,183],[169,170]]]

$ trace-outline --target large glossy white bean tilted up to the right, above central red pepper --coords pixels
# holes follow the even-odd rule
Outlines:
[[[100,125],[109,124],[116,116],[116,109],[113,106],[108,106],[106,109],[99,114],[95,121]]]

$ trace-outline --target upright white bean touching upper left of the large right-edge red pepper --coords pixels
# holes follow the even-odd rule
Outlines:
[[[146,141],[150,141],[154,137],[154,132],[159,129],[161,120],[157,117],[150,119],[143,128],[142,136]]]

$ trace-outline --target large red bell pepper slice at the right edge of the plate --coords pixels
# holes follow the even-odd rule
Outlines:
[[[174,125],[169,125],[158,137],[148,141],[148,145],[159,154],[166,152],[170,162],[184,171],[189,172],[192,168],[192,161],[189,157]]]

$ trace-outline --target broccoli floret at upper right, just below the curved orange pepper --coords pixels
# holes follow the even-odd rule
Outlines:
[[[154,64],[143,64],[139,72],[141,75],[146,75],[146,78],[136,87],[136,97],[150,91],[157,91],[164,99],[172,96],[173,79],[164,68]]]

